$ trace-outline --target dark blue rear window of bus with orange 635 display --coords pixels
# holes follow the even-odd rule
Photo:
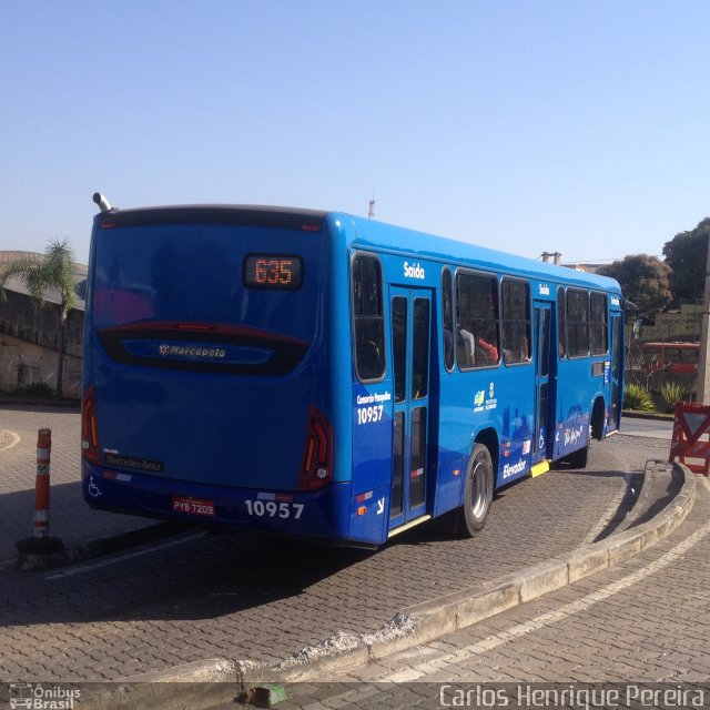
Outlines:
[[[320,250],[310,233],[226,224],[102,231],[94,240],[89,315],[98,328],[220,324],[310,342]]]

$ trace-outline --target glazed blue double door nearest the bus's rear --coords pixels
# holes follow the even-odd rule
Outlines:
[[[432,294],[390,287],[394,367],[389,529],[426,513]]]

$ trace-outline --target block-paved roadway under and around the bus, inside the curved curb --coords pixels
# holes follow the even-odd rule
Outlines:
[[[31,535],[40,426],[53,430],[53,535],[81,544],[152,525],[83,503],[78,414],[4,409],[0,430],[22,438],[6,450],[0,444],[6,560],[14,538]],[[555,470],[501,490],[485,530],[468,540],[420,527],[364,554],[196,534],[55,574],[7,567],[0,679],[119,680],[216,657],[276,662],[338,633],[372,633],[403,608],[592,541],[618,513],[629,474],[667,452],[666,443],[613,437],[592,447],[584,471]]]

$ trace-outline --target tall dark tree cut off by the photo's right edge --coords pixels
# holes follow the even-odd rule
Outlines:
[[[670,287],[677,304],[702,303],[708,239],[710,217],[706,217],[694,230],[677,234],[663,245],[666,263],[672,268]]]

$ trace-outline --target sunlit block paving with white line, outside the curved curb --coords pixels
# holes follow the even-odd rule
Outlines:
[[[396,696],[386,684],[402,682],[635,681],[708,688],[710,485],[697,483],[687,521],[658,546],[475,627],[342,674],[344,683],[359,686],[334,683],[326,692],[295,686],[292,707],[318,696],[324,707],[366,707],[357,701],[372,683],[385,701]]]

